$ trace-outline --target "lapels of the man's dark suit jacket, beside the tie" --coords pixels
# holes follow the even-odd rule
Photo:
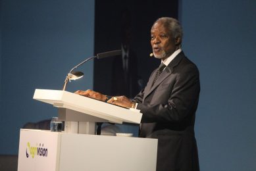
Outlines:
[[[166,66],[165,70],[163,70],[162,74],[159,76],[159,78],[157,78],[157,81],[152,86],[153,80],[155,78],[155,74],[157,73],[157,70],[154,71],[151,78],[149,79],[147,87],[145,87],[143,99],[145,99],[154,89],[156,89],[159,86],[159,84],[161,84],[161,82],[163,82],[166,78],[168,78],[168,76],[170,76],[172,74],[174,67],[177,66],[179,64],[179,62],[182,60],[182,58],[184,58],[184,57],[185,57],[184,53],[180,52],[173,59],[173,61],[170,62],[170,64],[168,64],[168,66]]]

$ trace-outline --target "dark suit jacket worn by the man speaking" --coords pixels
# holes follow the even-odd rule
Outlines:
[[[181,52],[151,87],[155,74],[133,99],[143,113],[140,137],[158,139],[158,171],[199,170],[193,130],[200,91],[197,67]]]

